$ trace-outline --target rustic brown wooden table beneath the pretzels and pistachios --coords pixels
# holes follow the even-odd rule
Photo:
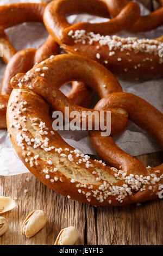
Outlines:
[[[146,166],[163,162],[161,152],[136,158]],[[53,245],[60,229],[70,225],[79,230],[77,245],[163,244],[163,200],[160,199],[141,206],[95,208],[60,196],[30,173],[1,176],[0,196],[17,197],[16,208],[2,215],[9,221],[9,230],[0,237],[0,245]],[[27,239],[21,234],[21,225],[34,209],[45,210],[48,223],[37,235]]]

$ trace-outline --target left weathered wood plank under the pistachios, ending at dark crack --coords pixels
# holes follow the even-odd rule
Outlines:
[[[29,182],[26,181],[27,177]],[[17,197],[16,208],[2,215],[9,221],[9,230],[0,237],[0,245],[53,245],[59,231],[70,225],[79,230],[77,244],[84,244],[84,204],[60,196],[41,184],[32,174],[0,176],[0,188],[0,196]],[[23,219],[34,209],[45,210],[48,223],[37,235],[27,239],[21,234],[21,225]]]

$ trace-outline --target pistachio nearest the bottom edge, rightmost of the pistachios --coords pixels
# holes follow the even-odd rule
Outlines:
[[[64,228],[60,231],[54,245],[74,245],[78,239],[78,231],[75,227]]]

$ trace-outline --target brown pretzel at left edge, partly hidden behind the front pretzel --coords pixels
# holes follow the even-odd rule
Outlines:
[[[51,35],[39,49],[25,49],[16,53],[10,44],[4,29],[15,26],[24,21],[41,21],[46,4],[9,4],[0,7],[0,44],[3,45],[3,60],[8,63],[5,69],[0,90],[0,129],[6,126],[5,113],[11,93],[10,80],[20,72],[32,69],[35,63],[40,63],[51,55],[59,53],[59,47]],[[83,83],[72,83],[72,90],[68,95],[75,103],[88,106],[91,101],[90,89]]]

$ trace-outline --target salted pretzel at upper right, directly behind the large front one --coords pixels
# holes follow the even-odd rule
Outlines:
[[[74,13],[109,17],[107,3],[109,1],[56,0],[47,5],[43,21],[48,32],[64,50],[97,60],[118,76],[134,78],[162,76],[163,58],[159,56],[162,38],[149,40],[110,36],[118,29],[131,27],[135,23],[131,19],[132,16],[136,20],[139,18],[140,8],[136,3],[129,2],[120,14],[106,23],[80,22],[70,25],[66,20],[67,15]],[[118,24],[117,28],[117,22],[122,26]]]

